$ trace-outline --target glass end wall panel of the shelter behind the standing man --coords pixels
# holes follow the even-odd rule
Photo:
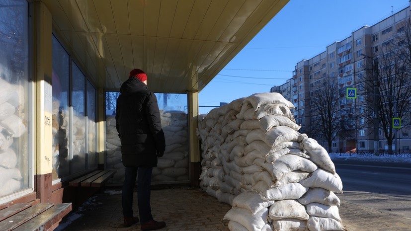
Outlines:
[[[107,169],[117,170],[109,180],[112,184],[124,181],[121,144],[115,121],[118,92],[106,92],[106,163]],[[187,95],[156,93],[165,135],[165,153],[153,168],[153,182],[188,181],[188,114]]]

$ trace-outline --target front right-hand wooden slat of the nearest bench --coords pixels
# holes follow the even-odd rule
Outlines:
[[[72,211],[72,203],[55,204],[53,207],[27,221],[13,231],[43,231],[50,229],[54,224]]]

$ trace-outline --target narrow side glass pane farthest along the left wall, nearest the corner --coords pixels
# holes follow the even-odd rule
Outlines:
[[[97,166],[97,126],[96,126],[96,91],[87,81],[87,162],[88,168]]]

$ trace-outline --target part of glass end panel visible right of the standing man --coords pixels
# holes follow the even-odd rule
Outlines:
[[[187,95],[156,93],[156,96],[165,152],[153,169],[153,182],[189,180]]]

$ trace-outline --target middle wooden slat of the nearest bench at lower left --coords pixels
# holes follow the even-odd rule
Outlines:
[[[48,208],[52,207],[52,203],[39,203],[30,208],[27,208],[0,223],[0,230],[1,231],[11,231],[14,228],[20,226],[21,224],[25,223],[26,221],[32,219],[33,217],[39,215],[43,211],[47,210]]]

